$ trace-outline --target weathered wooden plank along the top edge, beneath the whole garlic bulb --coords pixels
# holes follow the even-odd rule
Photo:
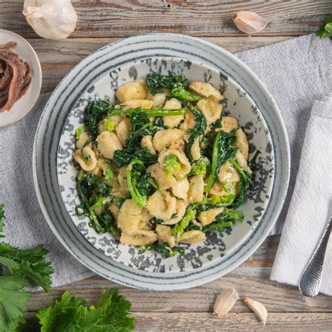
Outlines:
[[[0,28],[36,38],[22,15],[22,0],[0,3]],[[259,35],[296,36],[318,29],[331,14],[331,1],[72,1],[78,13],[72,37],[119,37],[148,32],[192,36],[242,36],[232,22],[235,12],[255,11],[272,22]]]

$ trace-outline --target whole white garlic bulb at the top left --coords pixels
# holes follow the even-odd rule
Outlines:
[[[25,0],[23,14],[36,34],[46,39],[65,39],[76,28],[71,0]]]

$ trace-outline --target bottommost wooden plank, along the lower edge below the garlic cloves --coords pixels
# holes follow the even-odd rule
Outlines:
[[[28,312],[25,318],[34,316]],[[263,324],[253,312],[230,312],[217,318],[211,313],[135,312],[135,331],[257,331]],[[269,312],[264,331],[331,331],[329,313]]]

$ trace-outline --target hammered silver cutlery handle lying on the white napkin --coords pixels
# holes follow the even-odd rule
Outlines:
[[[300,279],[298,289],[300,289],[300,292],[303,293],[304,296],[312,298],[312,296],[316,296],[319,293],[319,288],[321,286],[321,271],[323,270],[325,251],[331,231],[332,216],[330,216],[323,236],[321,237],[314,254],[310,258],[309,263],[307,263],[307,267]]]

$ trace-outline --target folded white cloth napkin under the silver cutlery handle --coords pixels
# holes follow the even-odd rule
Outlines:
[[[271,279],[298,285],[324,233],[332,206],[332,92],[314,102],[300,167]],[[332,296],[332,236],[324,260],[321,293]]]

